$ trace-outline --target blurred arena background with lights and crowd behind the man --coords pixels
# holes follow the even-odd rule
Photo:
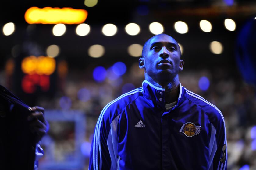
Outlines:
[[[29,24],[31,7],[84,9],[86,20]],[[101,110],[141,87],[142,46],[162,32],[182,47],[182,85],[224,115],[228,169],[256,169],[255,1],[25,0],[6,1],[0,12],[0,84],[44,107],[50,124],[39,169],[87,169]]]

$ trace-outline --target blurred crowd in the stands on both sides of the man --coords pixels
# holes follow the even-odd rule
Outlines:
[[[39,97],[37,101],[46,111],[79,110],[85,115],[85,148],[82,151],[85,165],[88,164],[94,127],[103,107],[121,94],[141,87],[144,80],[144,70],[139,69],[137,63],[129,66],[122,76],[112,79],[107,75],[102,82],[95,81],[89,74],[71,70],[62,82],[62,90],[57,90],[51,99]],[[207,77],[210,83],[204,90],[199,87],[201,77]],[[256,169],[256,86],[244,82],[238,71],[226,67],[214,70],[185,68],[180,73],[180,82],[222,111],[227,132],[228,169]],[[55,136],[58,142],[55,148],[56,160],[64,160],[63,153],[75,149],[72,128],[73,124],[50,124],[49,135]],[[65,135],[66,138],[63,137]]]

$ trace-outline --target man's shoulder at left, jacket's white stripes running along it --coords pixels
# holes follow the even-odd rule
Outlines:
[[[120,113],[126,105],[128,105],[130,102],[135,100],[140,94],[142,93],[142,88],[137,88],[134,90],[131,90],[125,94],[122,94],[121,96],[117,97],[115,100],[112,100],[109,102],[102,111],[104,112],[111,112],[118,114]]]

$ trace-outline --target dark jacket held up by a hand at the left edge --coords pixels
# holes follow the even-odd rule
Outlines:
[[[30,107],[0,85],[0,169],[33,170],[36,142],[27,116]]]

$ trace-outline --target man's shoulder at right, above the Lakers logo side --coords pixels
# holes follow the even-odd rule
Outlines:
[[[218,107],[216,107],[214,104],[210,103],[208,100],[204,99],[200,95],[193,93],[186,88],[184,89],[187,93],[187,99],[196,104],[198,107],[201,107],[201,109],[209,116],[210,120],[220,119],[224,121],[224,117]]]

